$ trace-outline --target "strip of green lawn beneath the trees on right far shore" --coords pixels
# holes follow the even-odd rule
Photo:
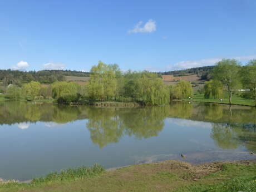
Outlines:
[[[184,101],[191,101],[186,99]],[[219,103],[218,99],[204,99],[204,94],[194,94],[193,101],[195,102],[216,102]],[[229,104],[229,99],[223,98],[222,104]],[[253,99],[244,99],[243,97],[233,95],[232,96],[232,104],[234,105],[248,105],[248,106],[255,106]]]

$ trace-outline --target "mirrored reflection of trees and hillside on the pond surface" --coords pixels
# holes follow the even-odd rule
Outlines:
[[[25,102],[0,105],[0,125],[17,124],[23,130],[28,129],[30,122],[43,121],[47,127],[61,127],[67,122],[86,119],[85,126],[90,131],[91,140],[100,147],[119,142],[125,135],[136,139],[157,136],[163,131],[168,117],[180,126],[211,128],[211,139],[221,149],[245,146],[256,152],[255,107],[188,102],[136,108],[35,105]]]

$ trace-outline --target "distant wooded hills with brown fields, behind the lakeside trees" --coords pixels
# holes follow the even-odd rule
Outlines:
[[[164,81],[175,82],[179,80],[199,81],[209,80],[210,70],[213,66],[195,67],[186,70],[158,72]],[[17,71],[17,70],[0,70],[0,84],[7,86],[16,84],[21,86],[22,83],[38,81],[41,83],[52,83],[55,81],[77,81],[84,84],[89,80],[90,72],[71,71],[71,70],[42,70],[42,71]]]

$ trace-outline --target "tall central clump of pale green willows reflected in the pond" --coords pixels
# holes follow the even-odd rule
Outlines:
[[[116,64],[106,65],[102,62],[92,67],[87,91],[93,101],[124,101],[125,98],[132,98],[144,105],[169,102],[168,87],[156,73],[128,71],[122,75]]]

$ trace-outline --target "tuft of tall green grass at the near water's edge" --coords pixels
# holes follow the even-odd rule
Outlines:
[[[93,165],[91,168],[81,166],[76,169],[61,170],[60,173],[53,172],[43,178],[36,178],[31,181],[31,184],[49,183],[51,181],[75,180],[81,178],[91,178],[101,174],[105,169],[98,164]]]

